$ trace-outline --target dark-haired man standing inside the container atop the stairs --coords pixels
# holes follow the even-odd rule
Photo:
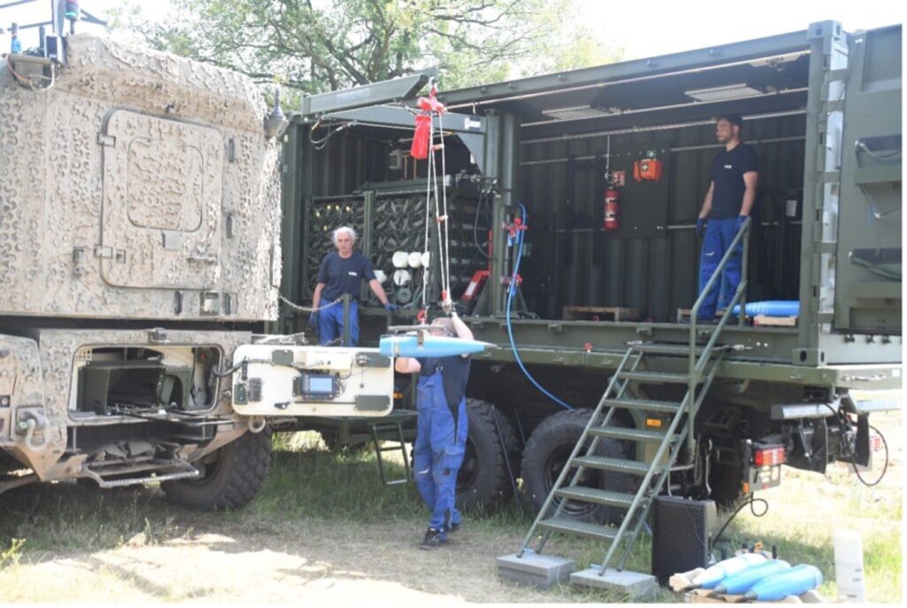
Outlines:
[[[759,159],[756,152],[740,140],[741,129],[743,119],[739,114],[726,114],[719,117],[716,123],[717,140],[725,144],[725,149],[712,161],[708,174],[711,182],[696,221],[697,234],[705,237],[699,264],[700,292],[711,279],[756,202]],[[740,284],[742,258],[743,245],[740,245],[727,260],[721,279],[716,281],[703,300],[697,321],[710,322],[715,319],[717,308],[727,308]]]

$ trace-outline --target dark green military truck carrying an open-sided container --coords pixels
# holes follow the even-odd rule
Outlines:
[[[869,464],[880,441],[869,415],[900,407],[883,389],[902,385],[901,50],[900,25],[847,33],[821,22],[442,91],[448,113],[434,128],[444,131],[453,296],[476,338],[497,346],[473,358],[463,505],[502,504],[513,473],[537,510],[601,522],[650,503],[651,492],[635,494],[644,484],[732,505],[780,483],[781,463]],[[391,82],[319,95],[291,116],[288,299],[311,297],[327,230],[348,224],[393,277],[387,289],[405,315],[423,290],[437,301],[436,269],[423,280],[394,263],[425,249],[426,169],[409,155],[406,93]],[[688,320],[694,224],[724,113],[744,116],[760,162],[735,301],[798,311],[728,310],[703,326],[695,311]],[[617,211],[606,209],[614,191]],[[374,342],[384,312],[360,314],[363,343]],[[284,310],[279,329],[306,321]],[[365,436],[349,424],[323,431]],[[591,441],[584,456],[578,442]],[[571,482],[568,463],[588,491],[563,487],[552,503],[551,490]]]

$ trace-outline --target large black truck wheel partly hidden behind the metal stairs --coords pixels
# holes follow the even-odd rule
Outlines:
[[[592,412],[588,409],[571,409],[558,412],[546,418],[535,429],[522,456],[522,487],[532,503],[536,514],[541,511],[545,499],[551,494],[551,488],[557,481],[561,470],[567,464],[573,447],[580,440],[583,429],[589,424]],[[592,438],[587,439],[587,445]],[[601,437],[596,446],[596,455],[610,458],[633,457],[632,446],[628,442]],[[570,474],[572,475],[572,473]],[[567,477],[565,485],[571,477]],[[577,485],[597,487],[613,492],[635,492],[637,480],[631,476],[587,468],[583,471]],[[559,498],[555,498],[554,505]],[[553,513],[553,509],[549,510]],[[568,501],[561,510],[561,515],[582,522],[595,524],[617,523],[626,513],[623,509],[608,505],[593,505]]]

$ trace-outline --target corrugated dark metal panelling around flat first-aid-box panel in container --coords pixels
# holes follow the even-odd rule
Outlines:
[[[803,187],[804,132],[803,114],[746,124],[746,141],[752,142],[760,159],[758,204],[762,221],[777,221],[786,199]],[[533,279],[541,280],[539,275],[546,273],[552,275],[553,293],[528,294],[530,306],[546,317],[555,317],[562,306],[574,305],[633,307],[639,309],[643,319],[672,319],[678,308],[689,308],[697,296],[700,242],[692,225],[707,191],[709,167],[720,150],[715,142],[715,128],[705,125],[668,132],[625,133],[613,135],[610,140],[612,158],[670,142],[672,152],[665,159],[669,171],[662,178],[668,180],[664,205],[670,230],[663,230],[661,236],[654,238],[632,239],[601,232],[599,224],[593,223],[599,217],[603,194],[596,190],[595,172],[576,172],[575,183],[571,184],[570,166],[563,159],[589,159],[604,154],[608,150],[607,137],[523,145],[520,199],[531,216],[554,216],[554,221],[535,226],[531,217],[530,230],[546,230],[545,224],[558,230],[553,239],[536,239],[532,256],[553,263],[536,265],[534,260],[527,260],[523,266],[525,274]],[[526,164],[557,159],[561,162]],[[627,180],[632,180],[630,174]],[[625,209],[633,202],[624,199],[620,204]],[[569,214],[576,221],[572,231],[566,230]],[[794,234],[798,238],[799,226],[793,228],[787,227],[787,240]],[[766,248],[766,243],[776,240],[777,232],[777,227],[766,227],[751,246],[753,282],[758,279],[752,290],[760,298],[773,297],[771,292],[778,290],[778,280],[772,278],[776,269],[759,268],[766,266],[766,260],[789,265],[792,272],[787,282],[796,282],[798,256],[794,257],[792,243],[788,243],[786,260],[775,260],[776,251]]]

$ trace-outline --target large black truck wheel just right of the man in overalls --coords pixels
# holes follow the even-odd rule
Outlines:
[[[501,437],[494,425],[497,415]],[[492,411],[492,405],[479,399],[466,399],[469,436],[466,454],[457,475],[456,505],[463,511],[493,511],[513,495],[511,472],[517,475],[519,442],[510,421],[502,412]]]

